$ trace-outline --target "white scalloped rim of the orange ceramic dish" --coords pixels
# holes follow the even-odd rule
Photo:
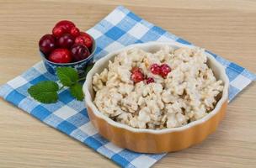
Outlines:
[[[148,47],[148,46],[152,46],[152,45],[174,45],[176,47],[189,47],[189,48],[195,48],[196,46],[194,45],[184,45],[178,42],[147,42],[147,43],[141,43],[141,44],[135,44],[135,45],[128,45],[120,50],[115,50],[113,52],[110,52],[108,55],[105,55],[103,58],[99,59],[96,61],[96,63],[94,64],[93,68],[91,71],[88,72],[88,75],[86,77],[86,81],[83,84],[83,93],[85,95],[85,103],[86,105],[92,109],[94,115],[96,115],[96,117],[104,119],[104,121],[106,121],[107,123],[109,123],[110,125],[119,128],[119,129],[127,129],[131,132],[135,132],[135,133],[148,133],[148,134],[168,134],[171,132],[178,132],[178,131],[184,131],[185,129],[189,129],[191,127],[194,127],[196,125],[199,125],[201,123],[205,123],[207,120],[209,120],[210,118],[212,118],[214,115],[216,115],[216,113],[218,113],[221,110],[221,106],[227,102],[228,100],[228,85],[229,85],[229,80],[227,77],[227,74],[225,72],[225,68],[224,66],[221,66],[221,64],[219,62],[216,61],[215,57],[213,55],[211,55],[210,53],[205,51],[205,54],[207,55],[207,59],[211,59],[212,63],[215,64],[215,66],[220,70],[221,75],[224,76],[223,77],[223,81],[224,81],[224,88],[223,88],[223,92],[222,92],[222,97],[221,99],[217,102],[216,107],[211,111],[211,113],[208,113],[207,115],[205,115],[205,117],[200,118],[194,122],[185,124],[181,127],[177,127],[177,128],[168,128],[168,129],[137,129],[137,128],[133,128],[129,125],[126,125],[124,123],[118,123],[115,122],[114,120],[112,120],[111,118],[108,118],[107,116],[105,116],[103,113],[100,113],[98,108],[96,108],[96,106],[93,103],[92,97],[90,95],[88,86],[89,83],[92,82],[93,79],[93,75],[95,74],[95,71],[97,71],[97,69],[99,68],[99,66],[103,66],[110,58],[112,58],[112,56],[120,53],[123,50],[129,50],[131,48],[134,47]]]

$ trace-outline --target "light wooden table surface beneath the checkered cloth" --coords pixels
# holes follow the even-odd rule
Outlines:
[[[256,2],[250,0],[0,0],[0,84],[40,60],[37,42],[61,19],[89,29],[117,5],[256,72]],[[227,109],[202,144],[155,167],[255,167],[256,86]],[[87,146],[0,100],[0,167],[116,167]]]

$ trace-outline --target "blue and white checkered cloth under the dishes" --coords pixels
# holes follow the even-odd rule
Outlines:
[[[112,50],[147,41],[178,41],[191,45],[184,39],[148,23],[122,6],[115,8],[99,24],[89,29],[88,33],[93,35],[98,44],[95,60],[107,55]],[[211,55],[214,55],[216,60],[226,67],[226,73],[230,80],[229,100],[232,100],[250,82],[255,81],[256,76],[243,67],[218,55],[212,53]],[[74,100],[68,90],[62,91],[59,95],[60,100],[54,104],[41,104],[29,97],[27,89],[39,81],[46,80],[56,81],[56,76],[47,72],[45,66],[40,62],[21,76],[17,76],[0,87],[0,96],[43,123],[83,142],[122,167],[150,167],[165,155],[135,153],[109,143],[93,128],[84,102]]]

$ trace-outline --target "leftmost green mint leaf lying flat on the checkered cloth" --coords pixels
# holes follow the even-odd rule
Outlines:
[[[29,95],[38,102],[53,103],[58,100],[59,86],[54,81],[40,81],[32,87],[29,87]]]

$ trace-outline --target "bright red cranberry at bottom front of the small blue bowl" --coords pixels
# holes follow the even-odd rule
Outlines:
[[[69,63],[72,61],[72,56],[67,49],[56,49],[51,52],[48,59],[55,63]]]

